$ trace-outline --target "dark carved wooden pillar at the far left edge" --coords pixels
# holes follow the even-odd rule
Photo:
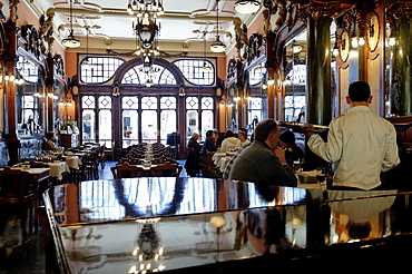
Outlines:
[[[14,67],[17,60],[17,26],[13,21],[9,20],[4,25],[6,32],[6,50],[4,50],[4,67],[6,76],[14,76]],[[19,162],[19,148],[20,140],[16,135],[16,84],[13,81],[4,81],[4,106],[7,111],[4,114],[4,138],[9,150],[9,165],[13,165]]]

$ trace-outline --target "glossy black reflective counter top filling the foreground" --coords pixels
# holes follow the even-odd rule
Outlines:
[[[43,196],[61,273],[245,273],[402,260],[411,194],[150,177]]]

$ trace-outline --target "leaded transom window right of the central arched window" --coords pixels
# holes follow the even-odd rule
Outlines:
[[[212,86],[215,82],[215,67],[205,59],[184,59],[174,61],[183,76],[193,85]],[[208,70],[204,70],[204,66]]]

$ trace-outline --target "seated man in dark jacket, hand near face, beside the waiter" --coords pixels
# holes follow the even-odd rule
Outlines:
[[[286,164],[285,150],[277,147],[281,128],[273,119],[261,121],[255,140],[233,163],[229,179],[256,184],[297,186],[293,169]]]

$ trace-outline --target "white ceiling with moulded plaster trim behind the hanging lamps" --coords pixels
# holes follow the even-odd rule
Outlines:
[[[68,35],[70,27],[69,0],[39,0],[29,6],[42,13],[55,13],[55,32],[58,39]],[[128,0],[75,0],[73,31],[82,41],[78,49],[86,50],[86,26],[89,33],[89,52],[105,52],[111,49],[118,52],[135,50],[136,41],[131,21],[136,16],[127,12]],[[249,26],[256,14],[239,14],[234,10],[235,0],[219,1],[219,36],[227,46],[234,47],[234,20]],[[36,7],[35,7],[36,6]],[[214,56],[208,45],[216,39],[216,1],[215,0],[164,0],[165,14],[159,17],[161,28],[159,48],[168,53],[188,52],[190,56],[204,55],[203,33],[206,31],[207,56]],[[261,8],[262,10],[262,8]],[[258,11],[259,12],[259,11]],[[257,12],[257,13],[258,13]],[[234,19],[235,18],[235,19]]]

